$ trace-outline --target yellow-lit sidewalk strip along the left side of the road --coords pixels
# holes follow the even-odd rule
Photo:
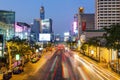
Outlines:
[[[26,63],[24,67],[24,72],[20,74],[13,74],[10,80],[27,80],[28,76],[32,76],[32,74],[36,73],[46,63],[46,55],[48,55],[49,53],[50,52],[44,53],[40,60],[36,63]]]

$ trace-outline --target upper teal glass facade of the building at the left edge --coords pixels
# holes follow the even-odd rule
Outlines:
[[[5,31],[5,39],[9,40],[14,36],[15,12],[0,10],[0,29]]]

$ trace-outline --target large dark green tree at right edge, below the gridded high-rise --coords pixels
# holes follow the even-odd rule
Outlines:
[[[106,33],[103,35],[106,39],[106,47],[109,50],[116,50],[118,57],[118,68],[119,68],[119,58],[120,58],[120,24],[111,25],[109,27],[104,27]]]

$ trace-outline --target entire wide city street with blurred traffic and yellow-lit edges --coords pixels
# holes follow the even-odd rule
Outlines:
[[[53,54],[53,53],[52,53]],[[29,64],[30,65],[30,64]],[[30,66],[33,66],[30,68]],[[119,80],[119,76],[77,52],[46,53],[29,71],[11,80]]]

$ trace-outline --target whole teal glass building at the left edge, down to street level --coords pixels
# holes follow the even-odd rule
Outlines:
[[[0,10],[0,57],[4,57],[6,40],[14,37],[15,12]]]

